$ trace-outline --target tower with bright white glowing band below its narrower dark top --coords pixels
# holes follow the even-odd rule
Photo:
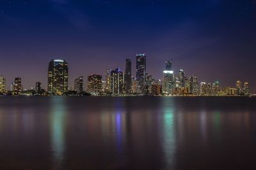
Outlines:
[[[175,77],[172,71],[172,62],[165,62],[165,70],[164,73],[164,82],[163,82],[163,93],[164,94],[174,94],[175,90]]]

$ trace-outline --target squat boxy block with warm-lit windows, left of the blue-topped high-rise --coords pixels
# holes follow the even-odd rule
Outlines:
[[[102,75],[92,74],[88,76],[88,92],[99,94],[102,92]]]

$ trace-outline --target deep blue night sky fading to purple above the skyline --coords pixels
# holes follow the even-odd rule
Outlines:
[[[51,59],[69,64],[74,78],[125,69],[147,54],[147,72],[163,77],[166,60],[199,81],[256,92],[256,0],[13,0],[0,1],[0,74],[25,88],[47,85]]]

